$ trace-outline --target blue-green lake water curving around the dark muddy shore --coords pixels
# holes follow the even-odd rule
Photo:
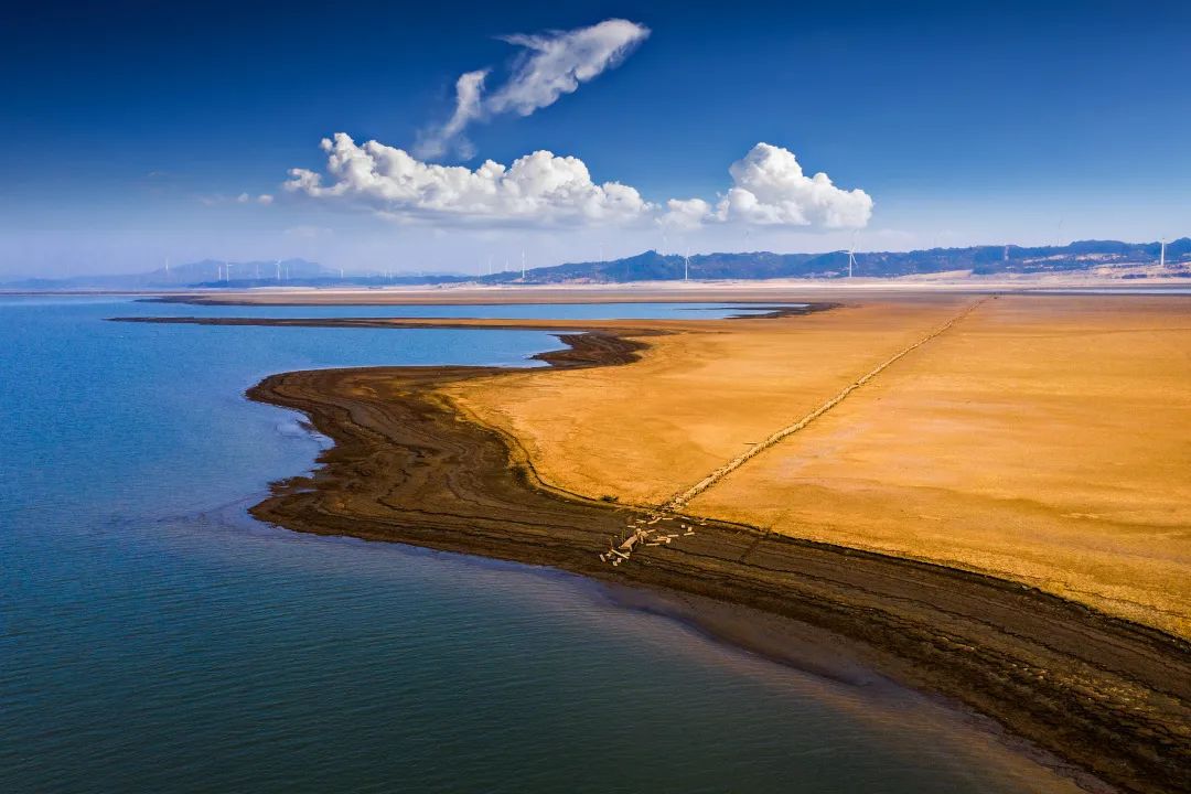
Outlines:
[[[581,579],[247,517],[323,443],[243,399],[261,376],[525,365],[549,335],[102,321],[156,313],[247,312],[0,299],[0,790],[1066,789],[913,695]]]

